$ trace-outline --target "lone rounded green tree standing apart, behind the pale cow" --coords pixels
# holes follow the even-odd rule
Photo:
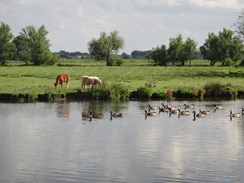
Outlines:
[[[119,49],[124,47],[124,39],[119,36],[118,31],[112,31],[109,35],[101,32],[100,38],[93,38],[88,43],[88,50],[96,60],[106,60],[106,65],[113,65]]]

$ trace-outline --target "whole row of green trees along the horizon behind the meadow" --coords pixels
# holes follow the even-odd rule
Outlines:
[[[101,32],[98,39],[93,38],[88,42],[89,53],[66,52],[61,50],[58,53],[51,53],[50,41],[47,39],[48,31],[45,26],[40,28],[27,26],[16,37],[11,33],[9,25],[0,24],[0,63],[5,65],[7,60],[14,59],[24,61],[26,64],[53,65],[60,58],[94,58],[105,60],[106,65],[121,65],[121,58],[124,59],[152,59],[156,65],[185,65],[187,61],[199,58],[210,61],[210,65],[221,62],[224,65],[235,65],[238,60],[243,59],[244,44],[244,11],[234,24],[236,33],[226,28],[218,35],[209,33],[204,44],[197,49],[197,42],[191,38],[183,41],[179,34],[169,39],[169,46],[157,46],[148,51],[134,50],[131,55],[122,53],[118,56],[119,50],[124,47],[124,39],[114,30],[110,33]],[[244,60],[243,60],[244,62]],[[243,63],[242,62],[242,63]]]

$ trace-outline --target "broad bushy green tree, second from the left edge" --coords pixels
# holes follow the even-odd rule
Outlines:
[[[15,39],[17,53],[21,60],[30,60],[35,65],[50,64],[51,44],[47,39],[48,31],[42,25],[39,29],[28,26]]]

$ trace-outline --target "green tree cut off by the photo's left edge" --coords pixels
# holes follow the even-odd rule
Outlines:
[[[13,34],[10,32],[10,27],[1,22],[0,25],[0,62],[2,65],[6,64],[8,59],[14,56],[15,46],[12,43]]]

